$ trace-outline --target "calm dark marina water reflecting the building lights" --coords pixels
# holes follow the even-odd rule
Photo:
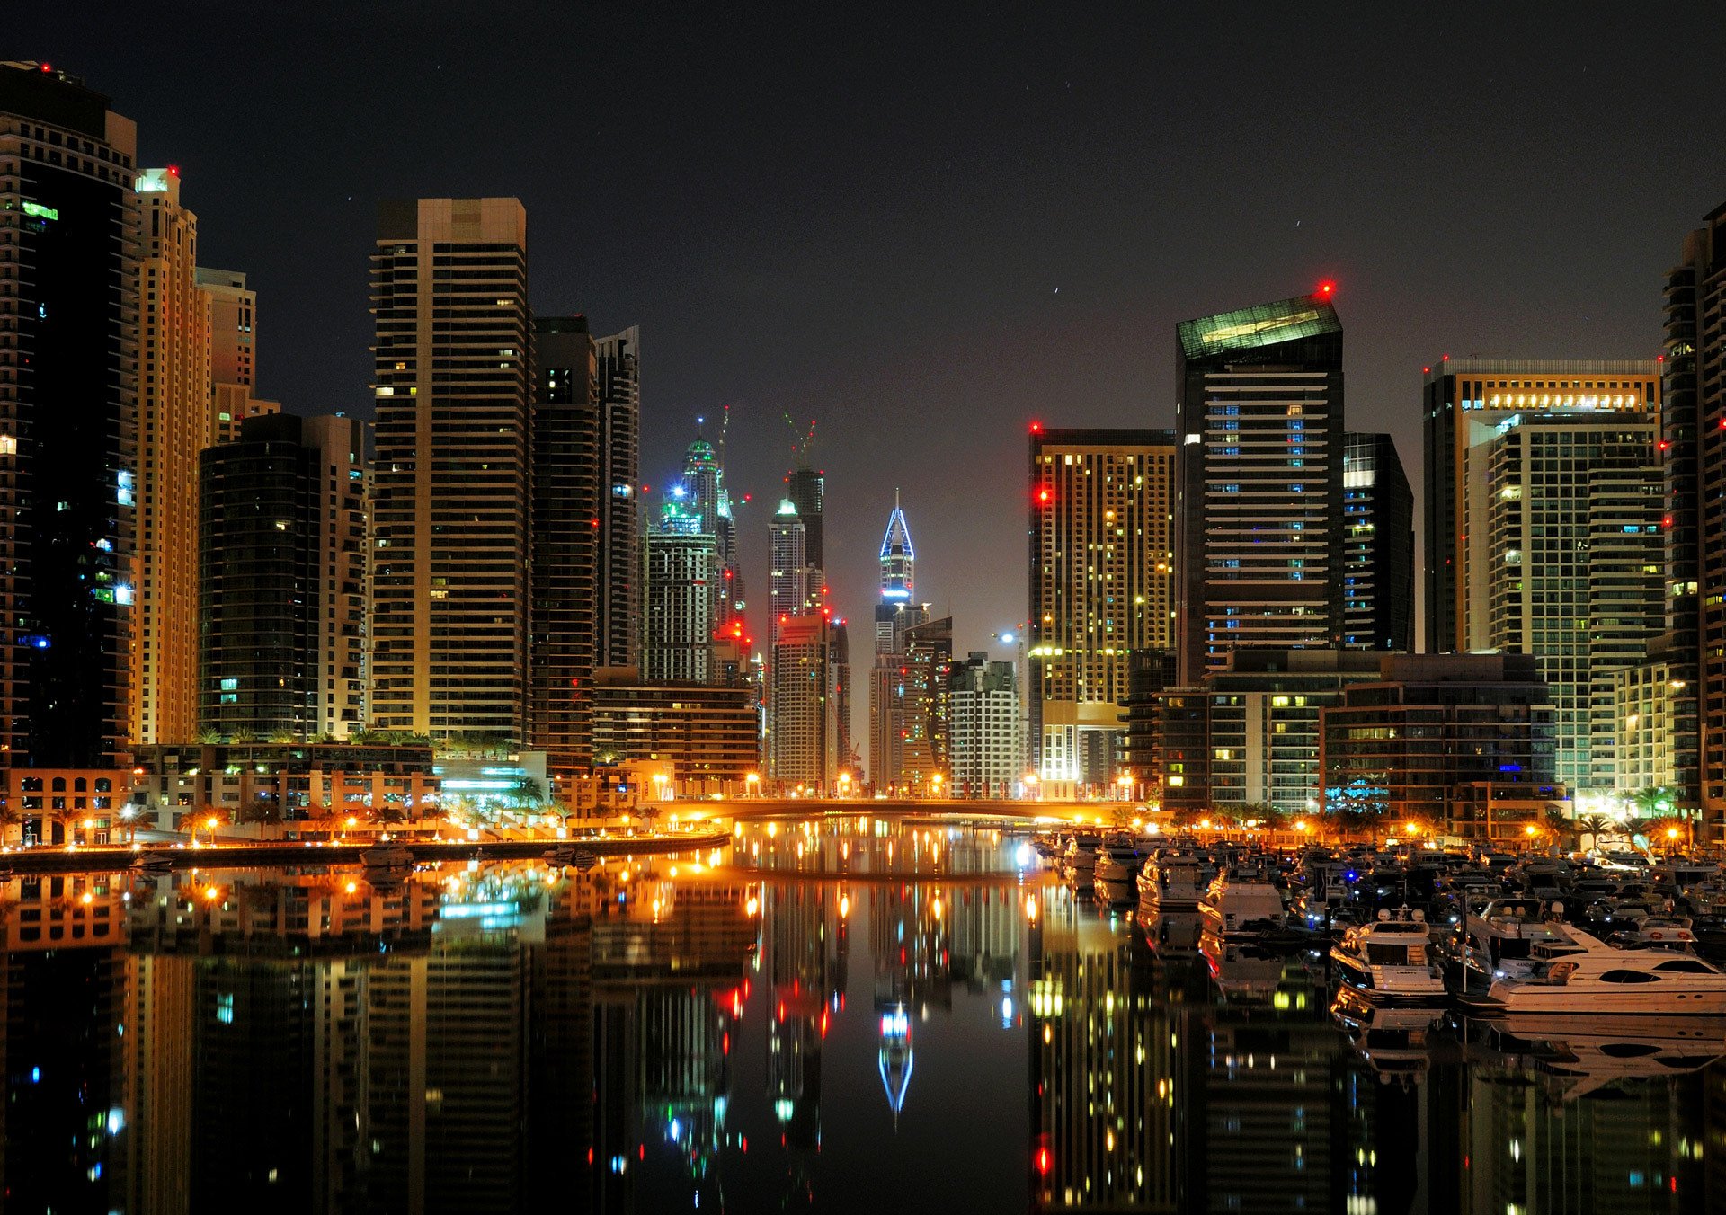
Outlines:
[[[1726,1203],[1726,1025],[1338,1004],[991,832],[5,891],[7,1212]]]

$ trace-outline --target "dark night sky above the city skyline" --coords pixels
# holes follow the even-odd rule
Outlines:
[[[535,309],[642,326],[646,482],[732,406],[756,614],[791,412],[839,611],[868,618],[898,485],[961,651],[1025,614],[1027,419],[1170,425],[1175,321],[1334,278],[1350,426],[1419,494],[1422,362],[1652,357],[1726,200],[1705,3],[76,16],[9,5],[7,50],[183,167],[200,261],[261,293],[262,395],[369,411],[378,198],[520,195]]]

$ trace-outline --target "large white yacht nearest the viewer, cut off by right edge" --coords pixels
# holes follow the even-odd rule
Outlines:
[[[1726,973],[1671,949],[1619,949],[1579,929],[1534,946],[1533,970],[1498,979],[1486,1004],[1507,1013],[1726,1013]]]

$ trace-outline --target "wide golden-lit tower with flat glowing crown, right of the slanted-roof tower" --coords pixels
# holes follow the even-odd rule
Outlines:
[[[1610,790],[1612,671],[1666,626],[1660,368],[1448,359],[1426,414],[1429,649],[1534,654],[1555,778]]]

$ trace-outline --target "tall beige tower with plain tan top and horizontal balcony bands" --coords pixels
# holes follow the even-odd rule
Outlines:
[[[520,200],[380,207],[371,257],[378,402],[371,702],[383,728],[523,737],[526,290]],[[614,340],[608,349],[601,383],[618,392],[625,356]],[[606,502],[632,500],[632,487],[623,490]],[[633,571],[625,570],[623,580],[633,587]]]

